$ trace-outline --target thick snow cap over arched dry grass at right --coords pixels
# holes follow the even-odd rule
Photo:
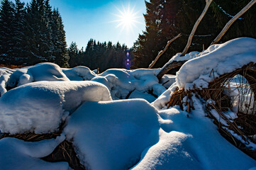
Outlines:
[[[208,82],[221,74],[233,72],[256,61],[256,40],[237,38],[220,45],[212,45],[201,57],[186,62],[177,72],[179,89],[206,88]],[[211,74],[211,72],[213,73]],[[211,74],[211,76],[210,76]]]

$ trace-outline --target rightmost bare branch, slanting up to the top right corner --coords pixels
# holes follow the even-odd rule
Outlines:
[[[228,21],[228,23],[226,24],[226,26],[223,28],[223,30],[221,30],[221,33],[217,36],[217,38],[215,40],[213,40],[213,42],[211,42],[211,45],[214,45],[216,43],[219,42],[219,40],[221,40],[221,38],[223,37],[223,35],[225,35],[225,33],[228,31],[228,29],[230,28],[230,26],[238,19],[240,18],[240,16],[242,16],[250,7],[252,7],[254,4],[256,3],[256,0],[252,0],[250,1],[249,4],[247,4],[247,6],[245,6],[245,8],[243,8],[239,13],[237,13],[233,18],[230,19],[230,21]]]

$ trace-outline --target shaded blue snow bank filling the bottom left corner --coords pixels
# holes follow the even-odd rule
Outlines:
[[[19,170],[65,170],[71,169],[67,162],[44,162],[40,157],[46,157],[55,147],[65,140],[64,136],[57,139],[40,142],[24,142],[15,138],[6,137],[0,140],[0,169]]]

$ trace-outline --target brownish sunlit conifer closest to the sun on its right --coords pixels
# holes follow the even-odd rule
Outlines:
[[[157,53],[162,50],[167,42],[167,35],[161,35],[166,32],[165,23],[168,21],[165,17],[164,0],[145,1],[147,13],[144,14],[146,28],[142,35],[139,35],[138,40],[134,44],[135,49],[135,65],[133,67],[148,67],[150,62],[155,59]],[[167,10],[166,10],[167,11]],[[169,8],[169,11],[175,11],[174,8]],[[165,21],[164,21],[165,20]],[[172,21],[174,22],[174,21]],[[171,23],[169,23],[171,24]],[[165,38],[163,40],[162,38]]]

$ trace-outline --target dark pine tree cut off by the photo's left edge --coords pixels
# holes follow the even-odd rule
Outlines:
[[[0,7],[0,61],[9,64],[13,60],[14,4],[9,0],[1,1]]]

